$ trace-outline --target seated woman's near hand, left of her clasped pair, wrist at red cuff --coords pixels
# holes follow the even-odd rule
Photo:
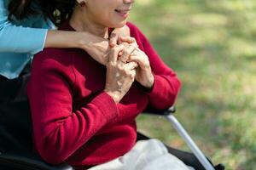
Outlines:
[[[116,103],[125,96],[131,88],[136,75],[136,63],[124,63],[118,59],[120,52],[124,50],[123,44],[111,48],[108,54],[107,76],[104,91],[109,94]]]

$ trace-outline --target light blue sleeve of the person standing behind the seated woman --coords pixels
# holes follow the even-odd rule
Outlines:
[[[37,54],[43,50],[48,29],[15,26],[8,14],[0,0],[0,52]]]

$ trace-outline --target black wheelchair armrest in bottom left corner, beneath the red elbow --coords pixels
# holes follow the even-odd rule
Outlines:
[[[19,168],[26,170],[73,170],[67,163],[53,166],[45,163],[39,156],[28,154],[3,154],[0,153],[0,167]]]

